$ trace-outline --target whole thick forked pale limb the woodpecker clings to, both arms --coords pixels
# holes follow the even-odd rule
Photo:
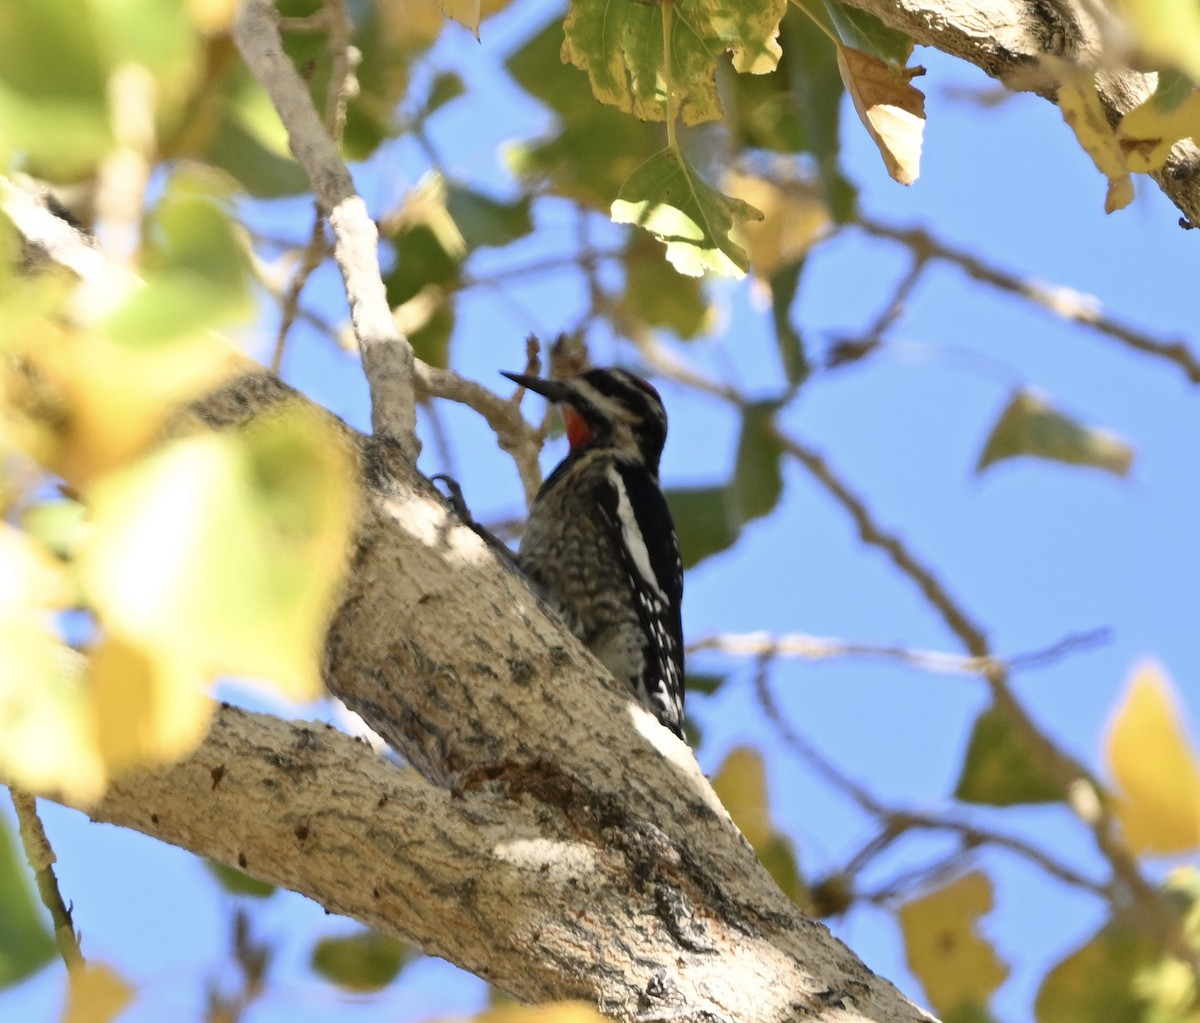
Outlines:
[[[43,258],[88,273],[82,237],[46,245],[42,219],[22,223]],[[306,401],[256,370],[190,417],[233,430]],[[400,444],[338,426],[361,520],[326,683],[420,773],[324,725],[224,707],[191,756],[88,812],[527,999],[584,998],[629,1021],[928,1018],[784,896],[691,752],[448,514]]]

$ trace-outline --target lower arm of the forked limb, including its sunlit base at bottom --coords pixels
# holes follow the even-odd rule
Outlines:
[[[595,1000],[620,1019],[919,1018],[820,925],[697,887],[686,848],[580,795],[548,766],[522,778],[516,765],[450,791],[326,725],[223,707],[194,754],[113,785],[91,814],[529,999]]]

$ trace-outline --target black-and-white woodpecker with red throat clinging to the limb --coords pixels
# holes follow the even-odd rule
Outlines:
[[[504,376],[558,402],[570,442],[529,509],[517,566],[600,663],[683,737],[683,562],[659,486],[662,400],[625,370]]]

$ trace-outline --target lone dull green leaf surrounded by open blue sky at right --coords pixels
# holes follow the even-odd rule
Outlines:
[[[992,427],[976,472],[1018,455],[1126,475],[1134,451],[1115,433],[1097,426],[1084,426],[1037,394],[1019,390]]]

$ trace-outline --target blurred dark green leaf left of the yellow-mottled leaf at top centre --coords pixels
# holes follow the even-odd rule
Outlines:
[[[563,64],[562,46],[562,22],[552,20],[508,60],[521,88],[560,122],[557,134],[510,148],[508,160],[521,178],[607,210],[622,183],[662,146],[662,127],[598,103],[587,76]]]

